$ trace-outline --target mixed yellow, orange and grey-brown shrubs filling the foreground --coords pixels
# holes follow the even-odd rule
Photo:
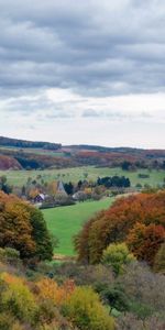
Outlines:
[[[0,249],[0,329],[164,330],[165,276],[130,261],[118,275],[105,264],[22,264]]]

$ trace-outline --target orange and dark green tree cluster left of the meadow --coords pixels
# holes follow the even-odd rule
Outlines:
[[[0,191],[0,246],[13,248],[21,258],[52,260],[53,245],[40,210]]]

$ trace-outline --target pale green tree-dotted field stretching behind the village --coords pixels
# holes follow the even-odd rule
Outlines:
[[[148,178],[139,178],[139,174],[148,174]],[[84,167],[74,167],[74,168],[64,168],[64,169],[44,169],[44,170],[0,170],[0,176],[6,175],[8,182],[11,185],[23,186],[28,178],[36,179],[37,175],[41,175],[45,182],[52,182],[55,179],[62,179],[63,182],[74,182],[77,183],[79,179],[85,179],[86,174],[88,174],[87,179],[96,180],[98,176],[127,176],[130,178],[132,186],[136,184],[148,184],[156,187],[160,184],[163,184],[165,178],[165,170],[155,170],[148,172],[148,169],[140,169],[138,172],[127,172],[122,170],[119,167],[109,168],[109,167],[94,167],[94,166],[84,166]]]

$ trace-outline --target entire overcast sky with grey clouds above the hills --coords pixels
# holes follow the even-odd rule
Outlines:
[[[165,1],[0,0],[0,135],[165,148]]]

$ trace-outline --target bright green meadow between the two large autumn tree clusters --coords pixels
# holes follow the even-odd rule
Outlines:
[[[59,245],[54,252],[74,255],[73,237],[79,232],[82,223],[97,211],[107,209],[113,200],[113,198],[105,198],[99,201],[86,201],[75,206],[43,210],[48,230],[59,240]]]

